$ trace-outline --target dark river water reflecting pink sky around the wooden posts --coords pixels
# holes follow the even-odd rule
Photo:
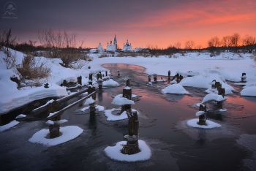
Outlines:
[[[107,146],[124,140],[127,120],[106,121],[104,113],[81,112],[85,106],[80,103],[61,115],[61,119],[68,120],[61,126],[75,125],[84,130],[75,140],[54,147],[29,142],[35,132],[48,128],[44,120],[20,121],[18,126],[1,132],[0,170],[254,170],[244,162],[244,159],[255,162],[252,151],[236,140],[241,134],[256,134],[256,98],[240,97],[238,93],[228,95],[225,113],[217,112],[214,104],[208,104],[208,119],[221,124],[221,129],[189,128],[186,121],[197,118],[196,104],[206,96],[205,89],[186,87],[192,95],[162,94],[167,82],[148,86],[143,67],[103,66],[110,69],[113,80],[121,86],[99,91],[96,103],[108,109],[118,108],[111,104],[112,96],[122,94],[126,80],[130,80],[132,94],[142,95],[132,108],[140,112],[140,140],[151,147],[151,159],[127,163],[105,156],[103,150]],[[121,77],[117,77],[117,70]],[[241,91],[241,86],[229,84]],[[82,96],[66,104],[80,98]]]

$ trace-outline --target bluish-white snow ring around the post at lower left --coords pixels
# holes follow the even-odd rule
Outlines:
[[[37,142],[43,145],[53,146],[59,145],[69,140],[73,140],[83,133],[83,129],[78,126],[65,126],[61,127],[59,131],[62,133],[61,136],[56,138],[45,138],[49,134],[49,129],[42,129],[36,132],[30,139],[30,142]]]

